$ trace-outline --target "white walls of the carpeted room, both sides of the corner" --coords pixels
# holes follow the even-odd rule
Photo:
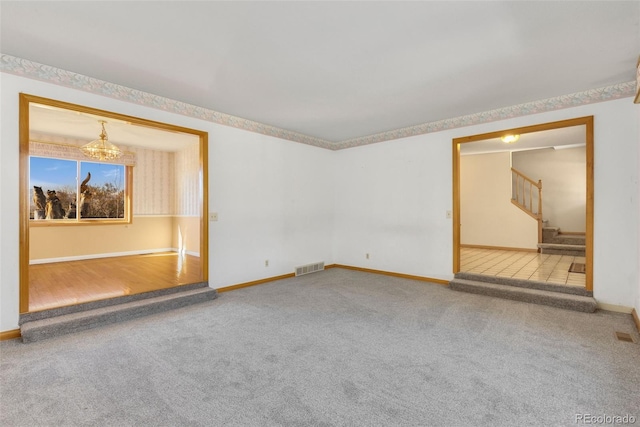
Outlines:
[[[209,209],[219,213],[209,233],[213,287],[319,260],[450,279],[452,139],[594,115],[594,296],[638,305],[639,117],[629,98],[332,152],[23,77],[0,78],[1,331],[18,327],[19,92],[209,132]]]

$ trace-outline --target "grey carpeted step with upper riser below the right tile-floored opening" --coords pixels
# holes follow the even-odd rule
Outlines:
[[[592,293],[578,286],[519,280],[506,277],[457,273],[449,287],[456,291],[548,305],[567,310],[593,313],[596,300]]]

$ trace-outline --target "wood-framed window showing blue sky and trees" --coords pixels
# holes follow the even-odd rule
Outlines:
[[[131,166],[29,157],[35,223],[130,222]]]

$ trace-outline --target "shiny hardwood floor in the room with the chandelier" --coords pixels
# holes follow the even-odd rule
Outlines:
[[[176,252],[29,266],[29,311],[202,281],[200,258]]]

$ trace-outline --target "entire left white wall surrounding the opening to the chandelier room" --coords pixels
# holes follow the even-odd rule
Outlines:
[[[18,327],[20,92],[209,132],[210,286],[334,262],[332,151],[6,73],[0,90],[0,331]]]

